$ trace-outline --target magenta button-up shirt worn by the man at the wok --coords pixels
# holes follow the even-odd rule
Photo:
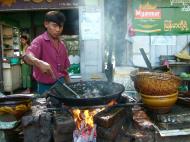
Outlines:
[[[32,53],[36,58],[49,63],[56,78],[67,76],[67,68],[70,66],[67,49],[62,41],[55,48],[47,32],[36,37],[27,48],[26,54]],[[55,82],[52,76],[42,73],[37,67],[33,68],[34,78],[45,84]]]

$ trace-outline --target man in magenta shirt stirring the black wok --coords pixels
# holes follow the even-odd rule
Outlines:
[[[65,16],[59,11],[45,14],[46,31],[36,37],[27,48],[23,60],[33,65],[33,76],[37,81],[37,92],[44,93],[58,79],[70,82],[67,68],[70,66],[65,44],[59,39],[63,31]]]

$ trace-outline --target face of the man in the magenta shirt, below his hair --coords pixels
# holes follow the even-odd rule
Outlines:
[[[47,32],[52,36],[52,38],[57,39],[63,31],[63,26],[59,26],[54,22],[44,22],[44,26]]]

